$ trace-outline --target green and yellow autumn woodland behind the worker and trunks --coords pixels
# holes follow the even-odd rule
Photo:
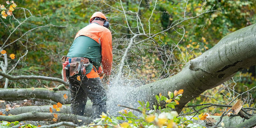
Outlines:
[[[0,4],[5,2],[2,0]],[[13,15],[0,18],[1,50],[5,50],[7,56],[15,54],[15,59],[8,57],[8,74],[61,78],[61,56],[67,54],[76,32],[88,25],[91,15],[102,11],[108,18],[112,15],[109,28],[113,45],[111,79],[121,77],[123,85],[133,87],[177,74],[189,60],[212,48],[222,37],[256,23],[254,0],[122,0],[122,6],[120,1],[98,0],[14,2],[17,7]],[[181,21],[179,19],[185,20],[169,29],[177,20]],[[143,24],[143,28],[137,29],[138,23]],[[148,37],[154,37],[137,35],[133,38],[134,33],[143,29],[149,33]],[[126,52],[131,39],[133,44]],[[4,63],[3,54],[0,61]],[[239,71],[229,81],[205,91],[187,105],[225,104],[230,97],[254,87],[255,76],[255,66]],[[6,80],[1,77],[0,88],[5,85]],[[59,83],[20,79],[9,80],[7,85],[8,88],[50,88]],[[241,97],[244,107],[255,108],[255,97],[255,90],[244,94]],[[5,108],[5,104],[1,105],[0,108]],[[223,109],[212,106],[201,112],[220,116]],[[182,112],[189,111],[191,108]]]

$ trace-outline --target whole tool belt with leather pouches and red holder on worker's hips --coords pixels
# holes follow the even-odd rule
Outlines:
[[[62,60],[63,81],[67,81],[68,77],[78,74],[79,71],[81,71],[82,75],[85,75],[86,73],[85,67],[90,65],[89,59],[84,57],[69,58],[67,56],[62,56],[61,60]]]

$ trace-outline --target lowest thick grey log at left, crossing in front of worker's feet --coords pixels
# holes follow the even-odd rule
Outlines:
[[[27,113],[22,113],[19,115],[14,115],[14,116],[0,116],[0,120],[8,121],[8,122],[13,122],[13,121],[27,121],[27,120],[46,120],[46,121],[51,121],[54,116],[54,113],[43,113],[43,112],[27,112]],[[68,122],[74,122],[76,124],[80,124],[79,122],[83,124],[90,124],[92,122],[91,118],[85,117],[85,116],[77,116],[74,114],[63,114],[63,113],[56,113],[58,118],[57,121],[68,121]],[[81,120],[81,121],[78,121]]]

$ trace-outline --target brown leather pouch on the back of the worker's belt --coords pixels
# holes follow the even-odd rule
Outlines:
[[[89,65],[89,59],[84,57],[74,57],[71,58],[71,63],[69,63],[69,75],[74,76],[79,73],[82,67]]]

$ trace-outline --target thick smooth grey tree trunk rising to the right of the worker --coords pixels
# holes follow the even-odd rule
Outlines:
[[[143,85],[132,90],[132,94],[146,93],[144,101],[155,104],[155,95],[161,92],[168,97],[168,91],[183,89],[180,105],[182,108],[207,89],[229,80],[237,71],[256,64],[256,24],[239,29],[223,37],[218,44],[199,57],[190,60],[178,74]],[[138,99],[135,99],[138,100]]]

